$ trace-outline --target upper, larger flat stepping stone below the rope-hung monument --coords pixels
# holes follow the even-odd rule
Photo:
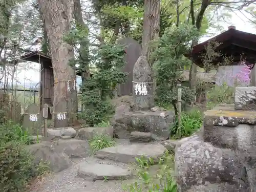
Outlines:
[[[116,162],[133,163],[135,157],[153,158],[158,161],[164,154],[166,148],[161,144],[136,143],[132,145],[117,145],[114,147],[103,148],[96,152],[95,156],[99,159],[108,159]]]

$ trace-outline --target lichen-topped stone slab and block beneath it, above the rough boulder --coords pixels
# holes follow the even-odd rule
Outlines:
[[[256,147],[255,124],[256,111],[231,111],[226,105],[205,112],[203,138],[218,147],[245,150]]]

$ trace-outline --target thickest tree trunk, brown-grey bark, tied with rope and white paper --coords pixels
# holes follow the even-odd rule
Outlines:
[[[77,111],[76,87],[73,89],[76,74],[75,69],[69,66],[70,59],[74,58],[74,52],[70,45],[63,42],[63,35],[71,29],[74,2],[73,0],[38,0],[38,4],[51,49],[54,74],[54,126],[65,127],[72,124]],[[58,120],[57,113],[66,113],[68,118]]]

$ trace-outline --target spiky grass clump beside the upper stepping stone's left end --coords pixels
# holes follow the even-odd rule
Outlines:
[[[102,150],[102,148],[114,146],[115,141],[109,135],[96,134],[89,140],[89,145],[92,147],[93,153],[95,153]]]

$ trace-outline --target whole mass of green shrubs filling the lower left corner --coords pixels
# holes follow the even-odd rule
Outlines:
[[[25,145],[30,135],[12,121],[0,124],[0,188],[1,192],[23,192],[30,179],[49,172],[45,162],[34,164]]]

